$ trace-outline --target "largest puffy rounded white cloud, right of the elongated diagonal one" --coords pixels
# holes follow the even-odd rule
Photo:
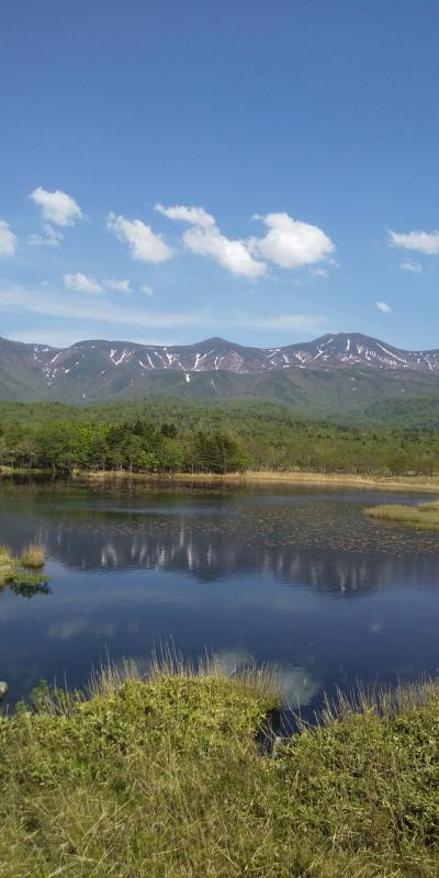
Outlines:
[[[281,268],[312,266],[335,250],[330,238],[318,226],[293,219],[288,213],[268,213],[255,218],[262,219],[269,232],[263,238],[251,238],[251,251]]]

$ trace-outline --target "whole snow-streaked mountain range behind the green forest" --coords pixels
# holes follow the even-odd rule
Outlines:
[[[0,338],[3,401],[252,397],[326,415],[436,391],[439,349],[407,351],[361,333],[328,334],[279,348],[222,338],[168,347],[90,340],[53,348]]]

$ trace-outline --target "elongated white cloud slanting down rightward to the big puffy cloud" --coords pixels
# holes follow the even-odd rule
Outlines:
[[[232,274],[250,279],[266,274],[267,266],[252,257],[247,241],[232,240],[223,235],[214,217],[203,207],[164,207],[156,204],[156,210],[169,219],[182,221],[192,226],[183,234],[183,244],[191,252],[212,257]]]

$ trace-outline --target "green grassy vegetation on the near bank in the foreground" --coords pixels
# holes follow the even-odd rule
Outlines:
[[[173,650],[0,717],[0,874],[437,878],[439,686],[327,701],[260,755],[270,674]]]

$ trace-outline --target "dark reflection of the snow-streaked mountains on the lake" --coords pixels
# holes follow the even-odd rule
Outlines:
[[[38,510],[41,511],[41,510]],[[309,510],[308,510],[309,515]],[[357,510],[357,529],[363,521]],[[18,516],[20,519],[20,516]],[[52,516],[49,515],[50,519]],[[202,526],[190,516],[161,516],[157,522],[139,520],[138,515],[117,522],[114,517],[90,513],[80,522],[64,516],[61,524],[46,520],[45,515],[29,519],[29,539],[42,541],[49,555],[71,570],[115,572],[130,569],[148,571],[180,571],[201,582],[215,583],[236,571],[258,572],[274,576],[285,585],[308,585],[318,592],[346,597],[404,583],[439,584],[438,540],[427,541],[425,534],[414,540],[413,533],[390,529],[380,539],[369,540],[369,549],[357,534],[358,548],[345,549],[339,542],[328,544],[327,531],[323,545],[307,547],[308,532],[303,520],[301,537],[290,542],[278,533],[268,539],[257,528],[248,532],[236,528],[232,532],[212,519]],[[110,520],[109,520],[110,518]],[[177,518],[177,520],[176,520]],[[227,522],[229,524],[229,522]],[[9,531],[16,540],[22,524],[9,518],[1,522],[2,533]],[[430,536],[430,534],[429,534]],[[386,539],[385,539],[386,538]],[[3,538],[4,539],[4,538]],[[351,538],[352,541],[352,538]],[[301,545],[300,543],[304,544]]]

